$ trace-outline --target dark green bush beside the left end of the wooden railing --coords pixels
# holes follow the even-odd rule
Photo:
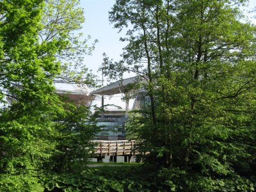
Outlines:
[[[91,141],[99,131],[95,114],[86,106],[66,103],[65,113],[54,119],[58,130],[54,137],[57,145],[48,164],[54,172],[80,173],[86,168],[90,151],[93,151]]]

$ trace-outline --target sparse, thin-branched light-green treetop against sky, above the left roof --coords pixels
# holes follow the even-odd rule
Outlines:
[[[94,49],[88,47],[88,40],[81,40],[79,33],[84,22],[83,10],[79,8],[79,0],[47,0],[42,17],[42,30],[39,32],[40,42],[44,47],[56,47],[55,53],[61,62],[61,74],[54,79],[54,83],[77,84],[82,88],[95,85],[95,76],[83,63],[85,54],[91,54]],[[44,54],[44,52],[42,52]]]

